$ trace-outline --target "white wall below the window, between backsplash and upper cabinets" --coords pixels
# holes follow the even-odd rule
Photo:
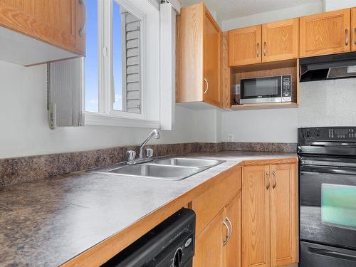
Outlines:
[[[99,126],[50,130],[46,66],[25,68],[0,61],[0,81],[0,158],[138,145],[150,132]],[[176,113],[174,131],[162,131],[156,143],[216,142],[216,110],[177,107]]]

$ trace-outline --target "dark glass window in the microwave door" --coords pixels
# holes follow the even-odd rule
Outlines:
[[[276,98],[281,96],[281,77],[241,80],[242,98]]]

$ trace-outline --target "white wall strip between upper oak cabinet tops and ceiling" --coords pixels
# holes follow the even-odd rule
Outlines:
[[[336,1],[336,0],[332,0]],[[223,31],[323,12],[323,1],[222,21]]]

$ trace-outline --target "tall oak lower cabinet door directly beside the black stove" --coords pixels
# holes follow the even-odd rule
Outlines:
[[[297,189],[295,164],[271,166],[271,263],[297,260]]]

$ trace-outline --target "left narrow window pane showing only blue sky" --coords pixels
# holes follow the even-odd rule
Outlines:
[[[85,1],[87,24],[85,31],[85,111],[99,110],[98,83],[98,1]]]

